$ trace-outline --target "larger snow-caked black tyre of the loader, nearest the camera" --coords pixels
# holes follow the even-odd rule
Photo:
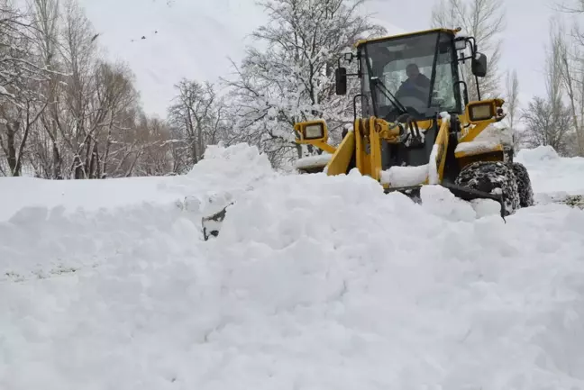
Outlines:
[[[515,213],[520,206],[514,169],[504,162],[473,162],[462,168],[455,184],[493,195],[502,193],[505,215]]]

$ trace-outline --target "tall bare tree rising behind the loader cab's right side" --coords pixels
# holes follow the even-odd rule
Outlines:
[[[433,7],[433,27],[461,27],[463,33],[474,36],[478,49],[488,56],[488,73],[479,78],[481,98],[500,95],[498,63],[501,58],[505,14],[502,0],[438,0]],[[471,77],[470,61],[463,65],[470,100],[478,99],[475,77]]]

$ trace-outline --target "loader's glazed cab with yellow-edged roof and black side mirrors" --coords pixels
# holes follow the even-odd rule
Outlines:
[[[470,59],[474,76],[484,77],[487,60],[476,51],[472,38],[456,37],[459,30],[437,29],[358,42],[358,73],[347,75],[339,64],[337,94],[346,94],[347,76],[358,76],[362,117],[394,122],[405,112],[420,121],[443,112],[462,114],[469,99],[459,66]],[[463,51],[469,46],[470,56],[466,57]],[[347,54],[344,59],[351,62],[353,56]],[[411,77],[408,70],[412,68],[419,72],[417,77]]]

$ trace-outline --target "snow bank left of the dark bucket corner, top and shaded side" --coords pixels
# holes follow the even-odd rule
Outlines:
[[[204,214],[273,175],[269,160],[242,144],[210,147],[184,177],[0,177],[0,280],[91,268],[132,242],[175,234],[184,219],[199,240]]]

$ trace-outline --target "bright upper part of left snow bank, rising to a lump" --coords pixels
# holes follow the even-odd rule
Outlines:
[[[222,207],[238,192],[249,190],[273,175],[276,173],[268,158],[255,146],[242,143],[227,148],[209,146],[204,159],[182,177],[81,181],[0,177],[0,204],[10,205],[0,207],[0,222],[9,221],[18,213],[29,213],[28,207],[33,208],[31,213],[50,213],[53,208],[76,213],[184,201],[187,207],[205,212],[205,204],[214,202]]]

